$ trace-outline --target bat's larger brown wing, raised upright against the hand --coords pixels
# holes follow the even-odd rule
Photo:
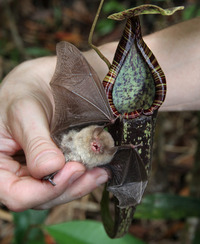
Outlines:
[[[57,65],[50,82],[55,111],[51,122],[54,139],[75,126],[110,122],[108,99],[97,74],[72,44],[57,44]]]

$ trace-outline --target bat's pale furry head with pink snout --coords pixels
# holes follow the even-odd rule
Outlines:
[[[109,163],[116,152],[110,133],[97,125],[88,126],[77,133],[75,144],[87,168]]]

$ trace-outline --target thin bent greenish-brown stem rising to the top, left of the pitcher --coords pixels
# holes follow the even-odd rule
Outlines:
[[[91,46],[91,48],[93,48],[96,51],[96,53],[99,55],[99,57],[107,64],[108,68],[110,68],[111,63],[109,62],[109,60],[103,55],[103,53],[101,53],[101,51],[95,45],[92,44],[92,37],[94,34],[94,29],[96,27],[97,20],[99,18],[99,14],[101,12],[103,3],[104,3],[104,0],[101,0],[99,7],[98,7],[98,10],[97,10],[97,13],[96,13],[95,18],[94,18],[94,21],[92,23],[92,27],[91,27],[89,38],[88,38],[88,43]]]

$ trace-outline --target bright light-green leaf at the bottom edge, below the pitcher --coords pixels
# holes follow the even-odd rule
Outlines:
[[[131,235],[110,239],[100,222],[85,220],[44,226],[58,244],[145,244]]]

